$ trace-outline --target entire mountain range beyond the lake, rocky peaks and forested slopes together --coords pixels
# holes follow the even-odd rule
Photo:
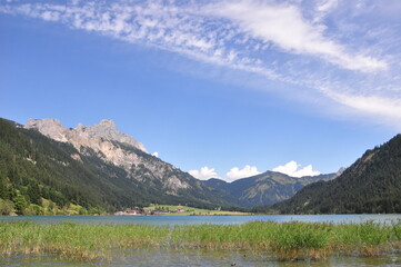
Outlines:
[[[337,174],[198,180],[112,120],[66,128],[0,119],[0,215],[99,214],[149,204],[282,214],[401,212],[401,136]]]

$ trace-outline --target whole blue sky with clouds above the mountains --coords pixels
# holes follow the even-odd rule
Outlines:
[[[401,130],[401,1],[0,0],[0,117],[197,178],[335,172]]]

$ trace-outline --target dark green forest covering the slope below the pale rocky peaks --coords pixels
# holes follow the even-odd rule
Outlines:
[[[82,154],[0,119],[0,215],[102,214],[151,202],[215,207],[189,192],[168,195],[127,177],[90,149]]]

